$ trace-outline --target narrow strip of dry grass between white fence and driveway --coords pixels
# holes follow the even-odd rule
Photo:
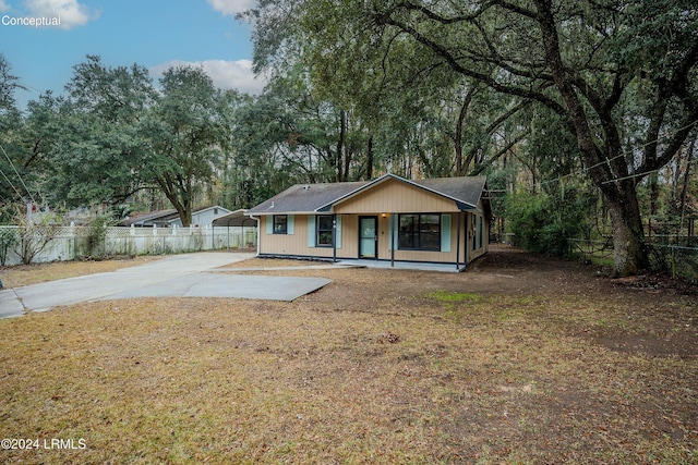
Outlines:
[[[85,274],[105,273],[120,268],[143,265],[161,257],[141,256],[121,260],[59,261],[53,264],[19,265],[0,268],[4,287],[20,287],[46,281],[75,278]]]

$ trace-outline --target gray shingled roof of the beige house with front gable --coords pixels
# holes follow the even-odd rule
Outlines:
[[[458,203],[459,207],[464,209],[476,208],[486,182],[485,176],[437,178],[412,181],[395,174],[385,174],[370,182],[297,184],[250,209],[246,215],[326,211],[333,204],[371,188],[372,185],[382,183],[387,179],[413,184],[448,197]]]

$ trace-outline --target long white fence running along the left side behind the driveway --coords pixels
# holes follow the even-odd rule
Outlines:
[[[256,228],[0,227],[0,266],[255,247]]]

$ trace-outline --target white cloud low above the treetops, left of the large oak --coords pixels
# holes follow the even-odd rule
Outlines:
[[[172,60],[151,69],[151,74],[160,77],[165,71],[174,66],[198,66],[213,79],[214,85],[221,89],[238,89],[245,94],[262,94],[266,85],[264,76],[255,76],[250,60],[225,61],[181,61]]]

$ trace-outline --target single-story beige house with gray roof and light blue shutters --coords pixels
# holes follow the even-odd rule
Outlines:
[[[484,176],[294,185],[250,209],[261,256],[454,264],[488,252]]]

